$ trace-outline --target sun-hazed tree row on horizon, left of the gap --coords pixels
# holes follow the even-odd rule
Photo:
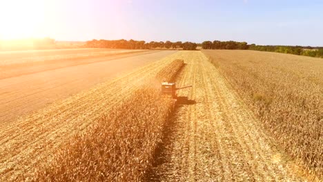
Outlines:
[[[135,41],[130,39],[121,40],[96,40],[86,41],[86,47],[88,48],[112,48],[112,49],[173,49],[173,50],[196,50],[197,43],[182,41]]]

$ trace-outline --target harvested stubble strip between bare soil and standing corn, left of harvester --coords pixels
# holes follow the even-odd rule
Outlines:
[[[3,126],[0,133],[1,181],[14,181],[23,174],[30,175],[39,161],[49,160],[59,145],[127,99],[130,92],[140,88],[147,79],[154,77],[181,54],[184,52],[172,54],[115,81],[102,83],[88,92]]]

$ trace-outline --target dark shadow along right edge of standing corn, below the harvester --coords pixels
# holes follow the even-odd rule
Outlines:
[[[175,108],[168,116],[168,119],[166,119],[166,125],[162,132],[163,138],[155,149],[152,165],[146,171],[144,181],[161,181],[161,177],[166,175],[162,174],[165,171],[161,172],[157,169],[163,165],[167,168],[167,165],[170,162],[170,155],[168,152],[173,150],[172,144],[174,143],[179,128],[181,127],[181,123],[177,122],[180,114],[177,113],[180,108],[184,107],[184,105],[194,105],[195,103],[196,101],[194,100],[188,100],[188,97],[177,97]]]

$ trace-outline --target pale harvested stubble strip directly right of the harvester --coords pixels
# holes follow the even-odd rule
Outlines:
[[[179,85],[193,89],[179,91],[147,181],[304,181],[204,54],[179,59]]]

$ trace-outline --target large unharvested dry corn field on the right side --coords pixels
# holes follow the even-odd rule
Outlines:
[[[205,54],[284,150],[322,179],[322,60],[252,51]]]

